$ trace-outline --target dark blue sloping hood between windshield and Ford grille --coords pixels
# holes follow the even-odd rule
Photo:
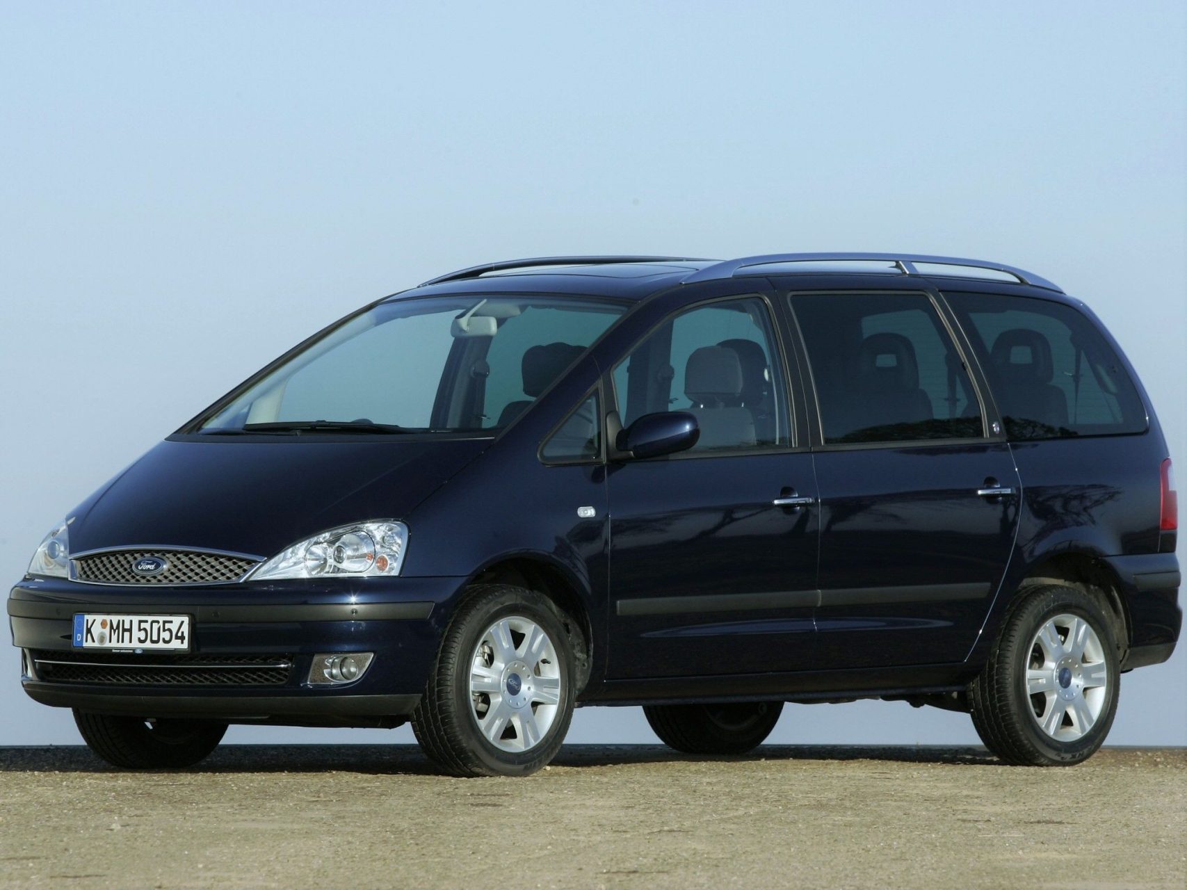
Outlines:
[[[71,514],[70,551],[151,545],[268,558],[335,526],[406,519],[489,444],[167,439]]]

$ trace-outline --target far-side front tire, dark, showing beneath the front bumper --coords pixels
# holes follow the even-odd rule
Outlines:
[[[209,755],[227,732],[226,723],[154,720],[91,714],[75,710],[75,724],[87,746],[113,767],[180,769]]]

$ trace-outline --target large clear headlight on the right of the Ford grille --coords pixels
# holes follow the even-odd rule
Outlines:
[[[402,522],[379,520],[341,526],[285,547],[247,580],[399,574],[407,543],[408,527]]]

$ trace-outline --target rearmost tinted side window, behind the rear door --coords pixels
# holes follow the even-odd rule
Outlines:
[[[1011,439],[1140,433],[1145,409],[1121,360],[1072,306],[947,294],[977,350]]]

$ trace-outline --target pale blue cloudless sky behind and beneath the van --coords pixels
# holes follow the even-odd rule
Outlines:
[[[1092,305],[1187,476],[1187,7],[0,0],[0,578],[307,333],[508,256],[914,250]],[[74,743],[0,651],[0,744]],[[1187,654],[1117,744],[1187,743]],[[408,740],[233,730],[230,740]],[[571,740],[653,740],[586,710]],[[973,743],[791,707],[779,742]]]

